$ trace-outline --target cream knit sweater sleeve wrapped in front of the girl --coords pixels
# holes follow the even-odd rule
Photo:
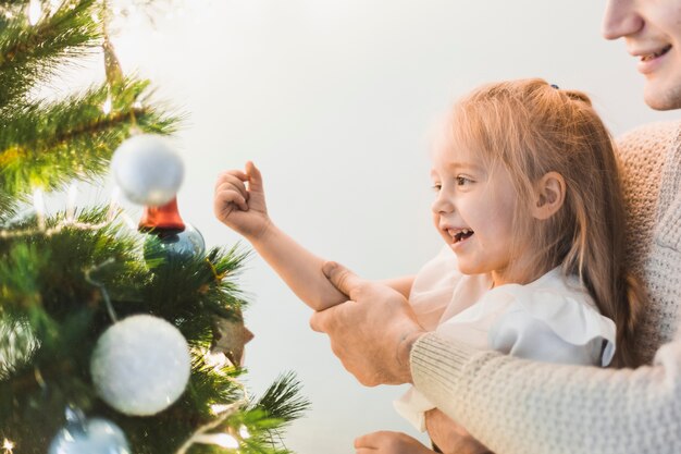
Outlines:
[[[429,333],[411,351],[413,381],[497,454],[681,452],[681,343],[652,367],[535,363]]]

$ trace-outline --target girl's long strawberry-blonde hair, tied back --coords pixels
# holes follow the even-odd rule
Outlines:
[[[617,326],[612,365],[636,366],[633,343],[643,293],[624,267],[614,143],[589,97],[540,78],[495,83],[457,102],[450,124],[455,147],[481,152],[492,168],[500,163],[510,174],[520,200],[515,247],[537,246],[523,273],[538,277],[562,263],[566,275],[578,275]],[[534,200],[534,185],[552,171],[565,179],[566,198],[554,216],[540,221],[522,204]]]

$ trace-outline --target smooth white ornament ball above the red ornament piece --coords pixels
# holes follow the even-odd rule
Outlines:
[[[111,158],[111,171],[127,199],[150,207],[171,201],[184,177],[179,156],[163,137],[153,134],[123,142]]]

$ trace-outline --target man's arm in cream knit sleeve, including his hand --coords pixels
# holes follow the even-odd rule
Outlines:
[[[412,381],[495,453],[681,452],[681,342],[635,370],[530,361],[425,334],[401,295],[338,265],[324,273],[352,300],[310,323],[344,366],[369,385]]]

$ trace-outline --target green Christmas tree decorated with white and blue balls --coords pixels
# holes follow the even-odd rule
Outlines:
[[[307,407],[295,378],[259,398],[239,381],[248,253],[207,251],[182,221],[162,139],[182,115],[123,74],[108,17],[102,0],[0,0],[0,450],[287,453],[281,430]],[[36,95],[92,52],[99,86]],[[103,184],[112,156],[139,229],[111,200],[42,209],[44,192]]]

